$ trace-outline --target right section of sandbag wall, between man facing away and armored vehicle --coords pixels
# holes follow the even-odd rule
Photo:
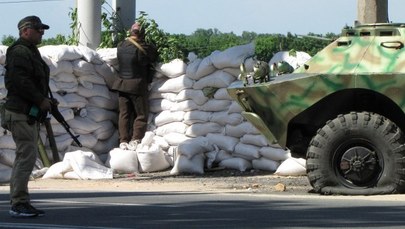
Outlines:
[[[226,91],[237,80],[240,63],[253,69],[253,55],[253,44],[247,44],[203,59],[189,56],[188,65],[173,60],[160,67],[160,78],[152,83],[149,130],[169,155],[176,152],[172,174],[203,173],[207,165],[276,171],[290,157],[268,144]],[[216,149],[201,147],[204,141]]]

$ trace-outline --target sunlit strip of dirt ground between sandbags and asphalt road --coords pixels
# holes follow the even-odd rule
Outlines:
[[[8,184],[0,190],[8,190]],[[149,192],[253,192],[308,194],[306,176],[285,177],[265,171],[213,170],[203,175],[170,175],[170,171],[117,174],[109,180],[35,179],[30,190],[149,191]]]

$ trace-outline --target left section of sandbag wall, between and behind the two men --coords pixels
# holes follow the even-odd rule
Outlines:
[[[109,91],[106,79],[115,73],[99,54],[84,46],[43,46],[39,48],[44,61],[50,67],[50,89],[59,101],[59,111],[71,127],[74,135],[80,135],[79,141],[84,150],[106,155],[118,144],[117,95]],[[6,47],[0,47],[0,94],[6,95],[4,86],[4,62]],[[3,93],[4,91],[4,93]],[[65,152],[75,150],[75,143],[64,127],[51,118],[58,151],[61,158]],[[2,149],[15,150],[9,132],[1,130]],[[46,131],[41,133],[46,148]],[[48,152],[51,157],[51,153]]]

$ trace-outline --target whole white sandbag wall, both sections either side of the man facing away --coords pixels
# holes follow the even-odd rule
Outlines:
[[[0,49],[0,61],[5,59],[1,50],[5,49]],[[290,157],[288,151],[269,145],[242,117],[242,109],[226,90],[237,80],[240,63],[253,69],[253,44],[215,51],[205,58],[190,54],[188,64],[176,59],[158,66],[150,85],[148,132],[136,155],[119,154],[116,148],[118,102],[117,94],[109,90],[117,77],[116,49],[95,52],[61,45],[41,47],[40,52],[51,69],[51,91],[72,132],[80,135],[82,150],[102,156],[113,171],[151,172],[170,166],[172,174],[203,173],[215,166],[276,171]],[[3,72],[0,69],[0,77]],[[62,158],[76,151],[63,127],[53,118],[51,123]],[[9,133],[0,136],[0,143],[3,151],[15,150]],[[126,159],[128,165],[116,167],[117,161]]]

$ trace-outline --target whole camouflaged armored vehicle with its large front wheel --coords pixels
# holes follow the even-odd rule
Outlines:
[[[271,143],[306,157],[314,191],[405,192],[405,24],[346,27],[290,74],[228,88]]]

